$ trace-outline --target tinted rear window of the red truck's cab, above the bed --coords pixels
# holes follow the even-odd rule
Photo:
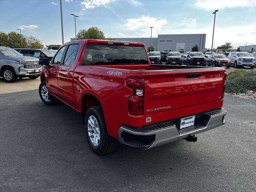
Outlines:
[[[144,47],[86,45],[83,65],[148,64]]]

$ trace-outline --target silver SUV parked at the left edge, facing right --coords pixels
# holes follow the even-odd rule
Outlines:
[[[0,75],[8,83],[15,82],[18,77],[38,78],[42,71],[38,61],[38,58],[23,56],[12,48],[0,46]]]

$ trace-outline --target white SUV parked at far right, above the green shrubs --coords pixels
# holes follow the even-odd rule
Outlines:
[[[234,64],[235,68],[240,66],[249,66],[254,68],[256,59],[247,52],[230,52],[228,55],[231,64]]]

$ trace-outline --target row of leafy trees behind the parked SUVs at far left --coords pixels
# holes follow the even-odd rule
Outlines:
[[[20,35],[17,32],[9,32],[8,34],[0,32],[0,46],[21,48],[21,40],[22,48],[44,48],[42,42],[34,36]]]

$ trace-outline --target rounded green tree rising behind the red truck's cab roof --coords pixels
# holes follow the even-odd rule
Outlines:
[[[105,39],[104,33],[94,27],[91,27],[88,30],[79,30],[76,37],[77,39]]]

